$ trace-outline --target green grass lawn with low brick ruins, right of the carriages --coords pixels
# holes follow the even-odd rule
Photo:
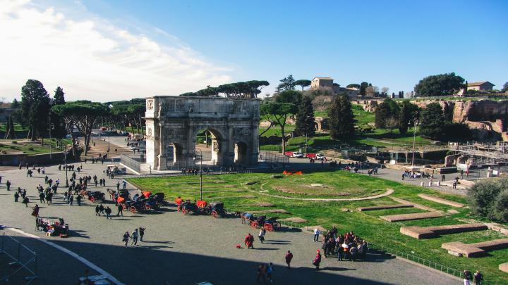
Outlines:
[[[399,229],[403,226],[431,226],[442,224],[461,224],[459,219],[471,219],[467,208],[455,208],[458,214],[447,215],[435,219],[417,220],[410,222],[386,222],[380,220],[380,215],[394,215],[399,213],[420,213],[422,210],[415,208],[375,210],[358,212],[355,209],[361,206],[387,205],[397,203],[389,197],[377,198],[365,201],[299,201],[267,196],[304,197],[304,198],[346,198],[358,196],[370,196],[385,192],[388,188],[394,189],[392,196],[426,205],[430,208],[446,212],[453,207],[427,201],[417,196],[425,193],[440,196],[452,201],[466,203],[464,197],[440,194],[432,189],[418,186],[410,186],[392,182],[376,177],[356,175],[350,172],[335,170],[332,172],[305,173],[302,176],[290,176],[281,179],[272,179],[270,173],[250,173],[246,175],[210,175],[203,177],[204,193],[206,201],[223,201],[226,208],[236,211],[267,210],[256,203],[268,202],[273,208],[288,210],[289,214],[277,214],[279,218],[303,217],[308,220],[303,225],[314,226],[317,224],[330,228],[336,225],[340,232],[351,231],[362,236],[372,243],[404,251],[432,260],[433,262],[446,265],[458,270],[480,270],[484,272],[485,279],[489,284],[502,284],[507,280],[508,274],[501,272],[497,266],[508,260],[508,249],[491,251],[483,258],[457,258],[449,255],[441,248],[441,243],[449,241],[463,241],[473,243],[490,239],[500,239],[501,236],[493,231],[468,232],[462,234],[449,234],[434,239],[417,240],[400,234]],[[199,198],[199,176],[183,177],[157,177],[157,178],[131,178],[129,182],[140,189],[152,192],[164,192],[168,200],[174,200],[176,196]],[[246,182],[256,182],[246,186]],[[327,191],[308,187],[313,183],[329,186]],[[295,193],[282,192],[278,187],[293,189]],[[267,192],[260,192],[267,191]],[[333,191],[348,194],[346,196],[332,195]],[[342,208],[348,208],[350,212],[344,212]],[[272,215],[274,216],[274,215]]]

